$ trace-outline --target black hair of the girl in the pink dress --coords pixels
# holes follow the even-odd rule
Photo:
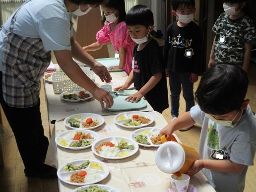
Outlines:
[[[115,8],[119,11],[118,23],[126,19],[126,3],[125,0],[104,0],[101,5],[106,7]],[[102,24],[104,25],[106,17],[103,14]]]

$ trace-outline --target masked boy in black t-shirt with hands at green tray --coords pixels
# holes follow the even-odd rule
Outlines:
[[[153,30],[152,11],[144,5],[135,5],[127,13],[126,24],[134,47],[134,67],[124,85],[115,90],[124,90],[134,82],[138,90],[126,98],[138,102],[143,96],[159,113],[168,108],[167,82],[164,73],[163,55],[158,43],[149,37]]]

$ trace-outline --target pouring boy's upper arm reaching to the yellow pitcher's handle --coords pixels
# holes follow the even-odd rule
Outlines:
[[[179,130],[182,128],[189,128],[194,124],[195,124],[195,122],[191,118],[190,111],[188,111],[188,112],[182,114],[180,117],[178,117],[175,121],[171,122],[169,125],[162,128],[159,133],[159,136],[166,134],[167,140],[170,140],[170,135],[175,130]]]

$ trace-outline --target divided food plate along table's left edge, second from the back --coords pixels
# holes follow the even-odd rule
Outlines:
[[[81,150],[92,146],[92,143],[100,138],[99,134],[92,130],[75,129],[59,134],[55,138],[57,145],[71,149]]]

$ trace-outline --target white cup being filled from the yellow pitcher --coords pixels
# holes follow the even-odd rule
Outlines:
[[[171,176],[171,185],[176,192],[187,192],[190,185],[190,176],[182,174],[181,177]]]

